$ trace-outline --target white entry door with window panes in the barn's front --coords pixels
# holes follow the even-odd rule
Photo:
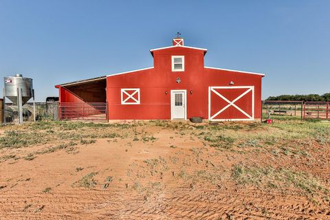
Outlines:
[[[170,118],[186,119],[186,90],[170,91]]]

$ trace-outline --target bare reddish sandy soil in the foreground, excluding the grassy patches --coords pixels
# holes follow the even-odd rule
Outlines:
[[[138,129],[155,140],[98,138],[74,152],[1,162],[0,219],[330,219],[326,199],[232,178],[234,164],[271,163],[299,167],[329,186],[329,148],[315,146],[303,159],[275,157],[263,149],[219,150],[194,136],[195,128]],[[44,147],[3,149],[0,155]],[[96,185],[78,186],[89,173]]]

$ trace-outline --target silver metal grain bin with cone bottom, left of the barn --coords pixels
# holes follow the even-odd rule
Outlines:
[[[5,77],[5,94],[13,104],[17,104],[17,89],[22,89],[22,105],[32,98],[32,78],[23,77],[21,74]]]

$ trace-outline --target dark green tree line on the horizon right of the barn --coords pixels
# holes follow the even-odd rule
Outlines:
[[[318,95],[281,95],[281,96],[270,96],[266,100],[276,101],[305,101],[305,102],[330,102],[330,93]]]

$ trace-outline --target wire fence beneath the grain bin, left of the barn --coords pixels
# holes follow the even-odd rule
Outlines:
[[[12,103],[5,103],[3,107],[4,123],[19,122],[19,107]],[[23,122],[34,120],[58,120],[58,102],[31,102],[23,105]]]

